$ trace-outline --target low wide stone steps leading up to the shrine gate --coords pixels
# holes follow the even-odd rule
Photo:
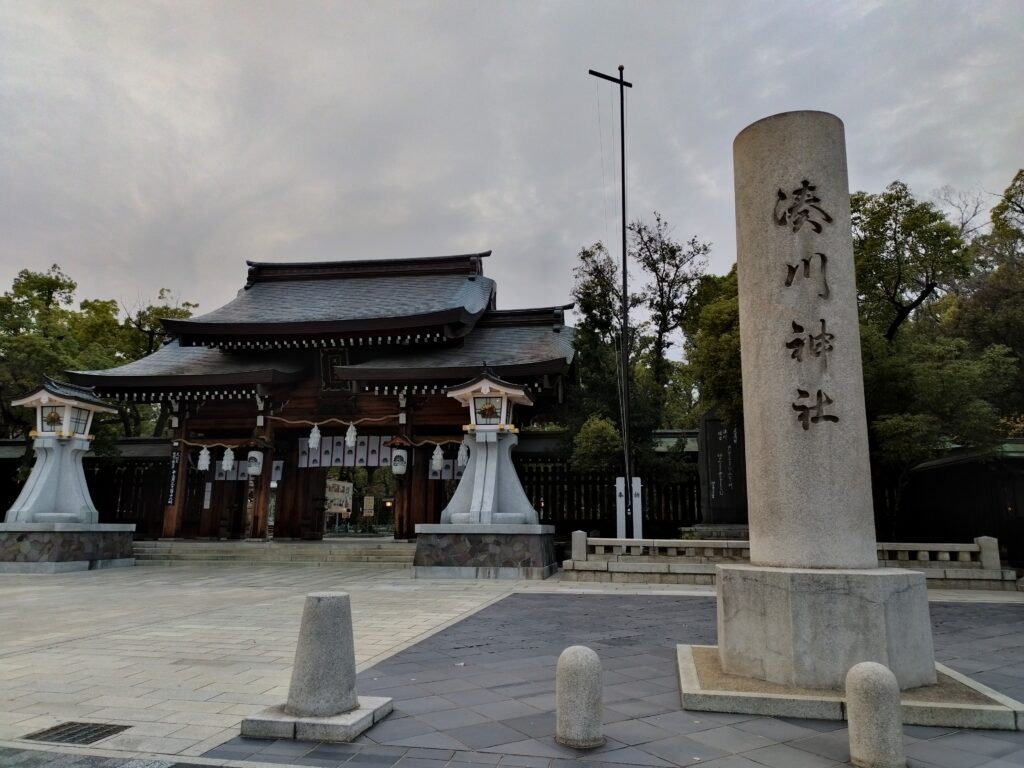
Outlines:
[[[136,565],[351,565],[409,568],[415,543],[391,539],[327,539],[319,542],[135,542]]]

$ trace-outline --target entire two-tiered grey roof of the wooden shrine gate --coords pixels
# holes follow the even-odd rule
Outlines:
[[[248,396],[308,378],[317,356],[336,383],[564,374],[574,356],[571,305],[497,310],[486,253],[425,259],[249,264],[246,288],[219,309],[166,319],[171,340],[73,382],[132,399]],[[188,392],[191,394],[189,395]],[[148,393],[142,396],[143,393]]]

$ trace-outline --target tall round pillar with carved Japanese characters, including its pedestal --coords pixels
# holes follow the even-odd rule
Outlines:
[[[718,569],[722,668],[934,683],[925,577],[878,568],[843,123],[775,115],[733,154],[751,565]]]

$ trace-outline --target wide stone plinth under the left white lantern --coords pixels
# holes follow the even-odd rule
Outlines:
[[[134,565],[135,525],[0,523],[0,573],[63,573]]]

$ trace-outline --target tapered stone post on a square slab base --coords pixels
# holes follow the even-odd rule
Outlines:
[[[391,699],[355,691],[352,606],[344,592],[306,595],[288,701],[242,721],[242,735],[351,741],[391,712]]]

